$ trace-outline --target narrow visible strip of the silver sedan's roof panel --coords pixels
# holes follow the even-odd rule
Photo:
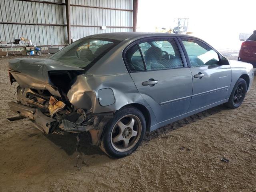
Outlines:
[[[151,36],[184,36],[184,37],[192,37],[181,34],[169,34],[169,33],[153,33],[153,32],[115,32],[115,33],[102,33],[95,34],[88,37],[92,38],[106,38],[106,39],[114,39],[119,41],[124,40],[132,40],[140,37],[151,37]]]

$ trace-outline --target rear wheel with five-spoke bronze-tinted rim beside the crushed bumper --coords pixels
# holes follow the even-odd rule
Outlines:
[[[138,148],[145,131],[146,121],[142,112],[133,106],[124,107],[106,125],[100,148],[110,157],[125,157]]]

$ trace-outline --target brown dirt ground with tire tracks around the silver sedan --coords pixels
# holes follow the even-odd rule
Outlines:
[[[256,191],[256,80],[240,108],[217,106],[147,133],[126,158],[109,158],[81,134],[78,170],[76,134],[44,135],[29,120],[6,119],[13,58],[0,58],[1,192]]]

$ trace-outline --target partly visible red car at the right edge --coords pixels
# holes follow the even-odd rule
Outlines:
[[[253,34],[242,42],[239,54],[238,61],[244,61],[251,63],[254,68],[256,68],[256,30]]]

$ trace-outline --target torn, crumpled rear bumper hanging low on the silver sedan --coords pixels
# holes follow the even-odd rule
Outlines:
[[[104,127],[113,117],[113,113],[102,113],[90,115],[90,118],[88,118],[84,110],[78,109],[70,114],[70,116],[74,117],[74,114],[77,113],[76,115],[79,117],[75,120],[70,116],[66,117],[66,119],[59,119],[56,118],[56,116],[54,118],[50,118],[45,115],[40,108],[32,108],[17,102],[8,102],[8,105],[10,110],[20,116],[29,118],[36,128],[46,134],[60,131],[74,133],[89,131],[93,145],[100,144]]]

